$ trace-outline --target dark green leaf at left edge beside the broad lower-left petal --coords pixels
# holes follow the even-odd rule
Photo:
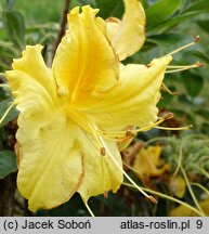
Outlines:
[[[13,152],[0,152],[0,179],[17,170],[16,156]]]

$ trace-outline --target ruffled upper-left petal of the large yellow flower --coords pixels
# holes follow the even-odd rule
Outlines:
[[[6,72],[6,79],[13,90],[17,109],[48,114],[49,108],[54,107],[56,84],[51,69],[49,69],[41,55],[42,47],[27,46],[23,56],[14,60],[14,70]]]

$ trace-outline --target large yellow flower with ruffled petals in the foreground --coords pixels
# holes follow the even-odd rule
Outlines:
[[[76,192],[84,203],[117,192],[122,183],[117,138],[126,135],[127,126],[143,128],[157,120],[159,88],[171,56],[155,58],[149,67],[120,65],[118,56],[122,60],[142,46],[127,48],[138,43],[135,34],[144,40],[141,3],[125,2],[126,14],[115,31],[119,39],[107,37],[108,23],[95,16],[97,10],[86,5],[79,13],[75,8],[52,68],[37,44],[27,46],[6,72],[19,110],[17,186],[31,211],[56,207]]]

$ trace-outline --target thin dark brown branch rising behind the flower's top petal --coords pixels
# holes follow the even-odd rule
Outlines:
[[[56,38],[54,47],[53,47],[52,57],[54,57],[55,52],[56,52],[56,48],[58,47],[63,36],[65,35],[65,26],[67,24],[67,13],[69,11],[69,4],[70,4],[70,0],[65,0],[65,5],[64,5],[64,10],[63,10],[63,16],[62,16],[61,23],[60,23],[60,31],[58,31],[57,38]]]

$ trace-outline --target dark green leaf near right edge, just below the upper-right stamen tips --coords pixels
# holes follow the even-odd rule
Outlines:
[[[199,94],[204,87],[204,79],[201,76],[193,74],[191,72],[184,72],[183,76],[183,83],[191,96],[196,96]]]

